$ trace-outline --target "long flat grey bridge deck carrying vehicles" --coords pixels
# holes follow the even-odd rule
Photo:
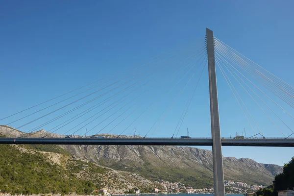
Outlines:
[[[211,138],[0,138],[0,144],[212,146]],[[221,139],[222,146],[294,147],[288,139]]]

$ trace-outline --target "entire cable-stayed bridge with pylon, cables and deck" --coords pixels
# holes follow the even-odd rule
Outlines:
[[[206,65],[209,93],[196,96]],[[221,137],[217,68],[250,128],[248,137],[245,130],[245,136]],[[183,123],[193,121],[189,111],[195,97],[210,97],[212,138],[191,138],[189,133],[179,136]],[[246,104],[247,100],[252,103]],[[1,124],[24,132],[0,138],[0,144],[212,146],[215,193],[224,196],[221,146],[294,147],[293,108],[293,86],[207,29],[203,38],[1,118]],[[152,138],[163,126],[172,130],[165,132],[170,138]],[[40,129],[47,134],[36,135]],[[136,129],[143,137],[125,137]],[[114,132],[116,136],[109,137]],[[98,136],[100,133],[106,136]],[[273,134],[282,138],[271,138]]]

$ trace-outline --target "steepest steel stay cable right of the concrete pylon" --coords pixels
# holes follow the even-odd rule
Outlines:
[[[244,115],[245,115],[245,112],[244,112],[244,110],[243,110],[241,104],[239,103],[238,98],[236,97],[236,95],[235,95],[234,92],[236,92],[237,96],[240,98],[240,100],[241,100],[242,104],[244,105],[246,111],[248,112],[248,114],[249,114],[251,120],[253,121],[253,123],[255,124],[255,126],[257,127],[257,129],[259,130],[259,132],[261,133],[261,130],[259,129],[257,123],[255,122],[254,118],[253,118],[252,115],[250,114],[250,112],[249,112],[248,108],[246,107],[244,101],[242,100],[242,98],[240,97],[239,93],[237,92],[237,90],[235,89],[234,85],[232,84],[230,78],[226,75],[226,73],[225,73],[224,70],[222,69],[221,64],[219,63],[219,60],[218,60],[218,56],[216,56],[216,62],[217,62],[217,65],[219,66],[219,68],[220,68],[220,70],[221,70],[221,73],[222,73],[223,77],[225,78],[225,81],[226,81],[227,84],[229,85],[229,87],[230,87],[230,89],[231,89],[231,91],[232,91],[234,97],[236,98],[236,100],[237,100],[239,106],[241,107],[241,109],[242,109]],[[233,87],[234,90],[232,89],[232,87]],[[251,123],[249,122],[249,120],[248,120],[248,118],[247,118],[246,115],[245,115],[245,117],[246,117],[248,123],[250,124],[253,133],[255,134],[255,131],[254,131],[254,129],[253,129],[253,127],[252,127]]]

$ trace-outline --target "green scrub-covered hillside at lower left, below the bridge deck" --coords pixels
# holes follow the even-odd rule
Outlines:
[[[123,193],[150,190],[154,183],[72,157],[58,146],[0,145],[0,192],[12,195],[96,194],[107,188]]]

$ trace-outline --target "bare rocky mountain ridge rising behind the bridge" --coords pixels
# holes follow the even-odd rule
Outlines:
[[[7,126],[0,126],[0,133],[25,136],[25,133]],[[45,136],[49,133],[42,130],[34,135]],[[115,136],[104,135],[104,137]],[[75,157],[117,171],[137,173],[150,180],[176,181],[194,188],[213,186],[210,150],[177,146],[60,145],[59,147]],[[246,158],[223,157],[223,165],[226,180],[242,181],[247,184],[269,185],[274,176],[282,172],[281,166],[261,164]]]

